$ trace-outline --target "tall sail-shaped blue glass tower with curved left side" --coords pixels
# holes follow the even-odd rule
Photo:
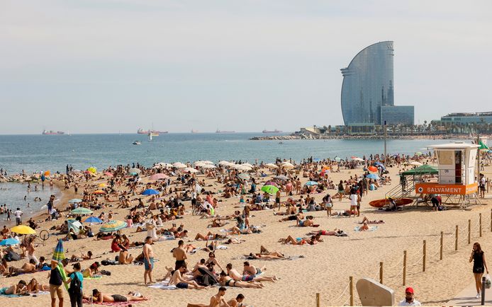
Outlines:
[[[349,66],[341,69],[345,125],[383,124],[381,106],[394,105],[393,51],[392,41],[377,42],[364,48]]]

